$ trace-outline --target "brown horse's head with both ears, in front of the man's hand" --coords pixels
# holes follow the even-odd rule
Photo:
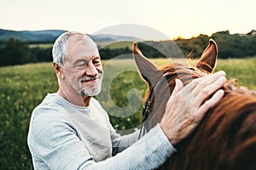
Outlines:
[[[137,47],[137,43],[133,44],[134,59],[137,65],[137,70],[141,77],[148,82],[148,93],[144,110],[147,110],[144,119],[150,114],[147,128],[154,127],[165,112],[166,101],[172,94],[175,87],[175,79],[180,79],[184,85],[198,77],[204,77],[212,73],[215,68],[218,48],[216,42],[212,39],[208,47],[201,55],[201,59],[195,66],[183,64],[169,64],[157,68],[150,60],[143,56],[142,52]],[[148,104],[149,102],[149,104]],[[157,114],[154,114],[157,112]],[[152,117],[153,116],[153,117]]]

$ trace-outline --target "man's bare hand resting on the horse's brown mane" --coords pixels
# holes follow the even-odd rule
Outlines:
[[[224,82],[224,71],[197,78],[184,88],[183,83],[176,80],[176,86],[166,104],[166,113],[160,122],[160,127],[173,145],[189,136],[208,109],[224,96],[224,90],[219,89]]]

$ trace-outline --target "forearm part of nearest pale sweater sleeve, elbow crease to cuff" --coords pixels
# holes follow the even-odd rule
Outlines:
[[[88,169],[155,169],[175,151],[158,124],[131,147]]]

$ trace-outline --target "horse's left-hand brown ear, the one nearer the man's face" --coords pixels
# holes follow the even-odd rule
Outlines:
[[[135,60],[137,70],[141,77],[143,77],[149,85],[154,86],[163,73],[143,55],[137,47],[137,42],[133,43],[133,59]]]

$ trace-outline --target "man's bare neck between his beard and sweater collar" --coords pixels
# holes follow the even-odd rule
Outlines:
[[[62,98],[66,99],[68,102],[72,103],[73,105],[84,106],[87,107],[90,105],[91,96],[82,96],[82,95],[70,95],[65,93],[61,88],[59,88],[57,94],[59,94]]]

